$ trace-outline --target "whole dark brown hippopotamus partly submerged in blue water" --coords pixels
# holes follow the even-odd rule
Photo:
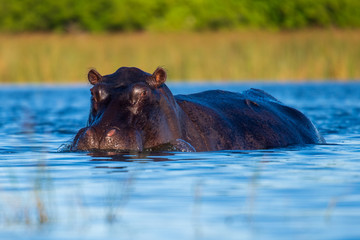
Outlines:
[[[166,71],[121,67],[93,85],[87,125],[73,151],[218,151],[321,144],[324,138],[300,111],[270,94],[211,90],[174,96]]]

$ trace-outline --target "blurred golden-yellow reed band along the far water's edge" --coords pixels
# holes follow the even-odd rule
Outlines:
[[[1,83],[86,83],[121,66],[170,81],[360,79],[360,30],[0,35]]]

